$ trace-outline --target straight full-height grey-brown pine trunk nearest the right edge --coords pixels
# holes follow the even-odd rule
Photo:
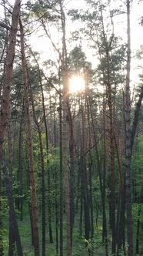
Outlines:
[[[130,65],[131,65],[131,32],[130,32],[130,0],[127,0],[127,76],[125,84],[125,185],[127,211],[128,256],[133,255],[132,209],[131,209],[131,99],[130,99]]]

